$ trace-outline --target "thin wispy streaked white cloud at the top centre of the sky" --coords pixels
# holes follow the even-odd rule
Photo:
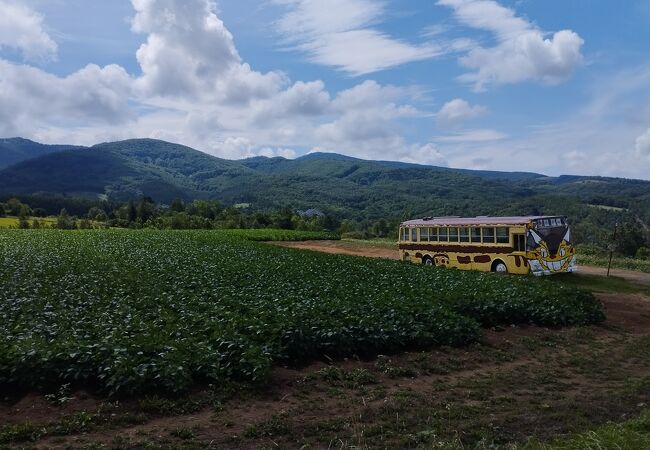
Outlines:
[[[312,62],[363,75],[444,53],[440,45],[412,44],[372,25],[384,13],[383,2],[370,0],[281,0],[289,11],[278,28]]]

